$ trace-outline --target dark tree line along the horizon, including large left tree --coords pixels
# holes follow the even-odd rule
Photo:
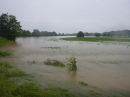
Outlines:
[[[110,31],[103,33],[88,33],[79,31],[78,33],[73,34],[57,34],[55,31],[39,31],[38,29],[34,29],[33,32],[29,30],[23,30],[21,28],[20,22],[17,21],[16,17],[13,15],[8,15],[8,13],[2,13],[0,16],[0,36],[5,37],[9,40],[14,40],[16,37],[30,37],[30,36],[130,36],[130,30],[121,30],[121,31]]]

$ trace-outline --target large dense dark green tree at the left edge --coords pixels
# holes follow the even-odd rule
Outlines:
[[[2,14],[0,16],[0,36],[14,40],[21,33],[20,22],[13,15]]]

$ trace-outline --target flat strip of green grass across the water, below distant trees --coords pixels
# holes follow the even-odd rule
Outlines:
[[[61,38],[66,41],[120,41],[120,42],[130,42],[130,38],[114,38],[114,37],[71,37],[71,38]]]

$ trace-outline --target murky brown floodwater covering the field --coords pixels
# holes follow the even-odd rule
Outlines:
[[[129,42],[64,41],[59,38],[17,38],[16,42],[2,48],[13,53],[3,60],[34,75],[35,81],[42,85],[81,88],[78,82],[83,81],[102,89],[130,91]],[[72,56],[76,57],[77,71],[44,64],[48,58],[66,64],[67,58]]]

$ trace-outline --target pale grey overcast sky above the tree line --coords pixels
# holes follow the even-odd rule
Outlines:
[[[130,0],[0,0],[22,29],[57,33],[130,30]]]

